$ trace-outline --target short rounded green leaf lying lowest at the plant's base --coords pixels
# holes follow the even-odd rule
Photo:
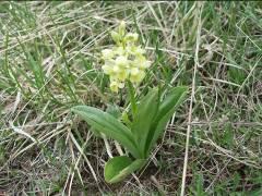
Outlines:
[[[139,170],[146,162],[145,159],[132,161],[127,156],[114,157],[105,166],[105,180],[107,183],[117,183],[126,179],[129,174]]]

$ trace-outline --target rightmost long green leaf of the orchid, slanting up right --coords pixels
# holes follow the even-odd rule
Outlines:
[[[175,110],[184,100],[187,91],[188,87],[186,86],[175,87],[160,102],[157,115],[154,119],[154,123],[151,126],[151,128],[154,131],[152,131],[152,133],[148,134],[146,138],[146,144],[144,148],[146,156],[150,154],[151,148],[156,143],[159,135],[163,133],[167,122],[174,114]]]

